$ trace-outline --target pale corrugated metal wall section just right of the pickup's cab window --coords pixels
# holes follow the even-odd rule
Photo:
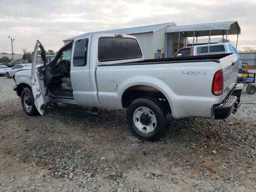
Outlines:
[[[154,58],[153,32],[130,34],[130,35],[133,35],[138,39],[138,42],[140,43],[142,53],[145,59]]]

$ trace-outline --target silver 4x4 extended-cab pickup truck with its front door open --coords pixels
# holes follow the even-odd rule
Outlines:
[[[38,49],[44,63],[36,67]],[[37,41],[32,69],[14,76],[24,112],[77,105],[124,109],[131,130],[156,140],[174,118],[224,119],[241,104],[236,54],[144,60],[138,40],[122,34],[92,34],[64,45],[46,64]],[[72,106],[71,106],[72,107]]]

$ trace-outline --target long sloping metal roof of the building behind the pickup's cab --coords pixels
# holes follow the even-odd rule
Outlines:
[[[132,27],[125,29],[116,29],[116,30],[108,30],[108,31],[98,31],[98,32],[90,32],[82,35],[78,35],[72,38],[65,39],[64,41],[74,40],[75,38],[83,37],[91,34],[99,34],[99,33],[115,33],[115,34],[138,34],[138,33],[146,33],[146,32],[155,32],[158,29],[164,28],[166,26],[176,25],[174,22],[171,23],[162,23],[156,25],[148,25],[148,26],[140,26],[140,27]]]

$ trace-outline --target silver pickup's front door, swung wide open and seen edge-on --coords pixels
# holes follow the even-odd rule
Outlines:
[[[42,44],[37,40],[36,45],[34,48],[34,53],[32,56],[32,69],[31,69],[31,88],[32,93],[35,100],[35,106],[38,112],[41,115],[44,115],[46,111],[46,86],[44,85],[44,76],[40,75],[38,69],[36,68],[36,57],[38,53],[38,48],[40,48],[41,52],[41,59],[44,61],[44,65],[46,65],[46,56],[44,52],[44,47]]]

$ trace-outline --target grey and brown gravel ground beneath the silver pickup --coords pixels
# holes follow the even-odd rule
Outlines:
[[[13,85],[0,77],[1,192],[256,191],[256,95],[245,88],[230,118],[173,119],[143,142],[122,110],[27,116]]]

